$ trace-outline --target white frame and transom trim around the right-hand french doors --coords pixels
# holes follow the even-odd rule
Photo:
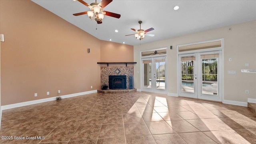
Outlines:
[[[191,50],[191,51],[186,51],[186,52],[178,52],[178,48],[179,46],[188,46],[188,45],[192,45],[192,44],[200,44],[200,43],[205,43],[205,42],[213,42],[213,41],[217,41],[217,40],[221,40],[221,47],[219,48],[209,48],[209,49],[203,49],[203,50]],[[221,68],[218,69],[218,74],[220,74],[220,76],[218,76],[218,82],[220,83],[220,86],[218,87],[218,95],[220,96],[220,98],[216,98],[214,101],[222,101],[224,100],[224,52],[223,52],[223,47],[224,47],[224,38],[220,38],[220,39],[215,39],[215,40],[207,40],[207,41],[202,41],[202,42],[194,42],[194,43],[190,43],[190,44],[183,44],[183,45],[177,45],[177,93],[178,96],[180,94],[181,88],[181,82],[180,82],[180,55],[192,55],[192,54],[207,54],[210,52],[214,52],[214,51],[219,51],[219,58],[220,58],[220,62],[218,62],[218,66]],[[199,61],[199,60],[198,60]],[[196,64],[198,65],[199,62],[196,62]],[[200,74],[201,75],[201,74]],[[195,90],[198,90],[198,88],[195,88]],[[198,94],[198,93],[197,93]],[[205,96],[190,96],[191,98],[200,98],[200,99],[205,99],[205,100],[209,100],[207,97]]]

